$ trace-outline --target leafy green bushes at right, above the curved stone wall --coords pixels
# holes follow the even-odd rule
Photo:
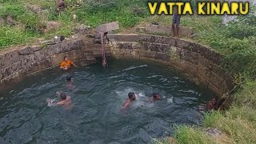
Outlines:
[[[253,10],[252,10],[253,11]],[[221,24],[221,17],[183,18],[193,27],[198,42],[209,45],[226,57],[222,66],[230,73],[246,73],[256,78],[256,16],[240,16],[238,20]]]

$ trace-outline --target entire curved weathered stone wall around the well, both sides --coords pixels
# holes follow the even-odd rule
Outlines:
[[[110,34],[111,53],[118,57],[151,58],[182,70],[189,78],[222,95],[234,87],[233,79],[220,66],[222,55],[206,46],[181,39],[150,34]],[[101,57],[101,45],[92,40],[74,40],[46,46],[26,46],[0,52],[0,83],[21,78],[51,66],[66,55],[74,62],[90,64]]]

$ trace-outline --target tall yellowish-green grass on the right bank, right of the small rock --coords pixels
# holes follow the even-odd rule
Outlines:
[[[207,114],[204,126],[217,127],[230,135],[233,143],[256,143],[256,81],[246,82],[234,94],[234,102],[225,114]]]

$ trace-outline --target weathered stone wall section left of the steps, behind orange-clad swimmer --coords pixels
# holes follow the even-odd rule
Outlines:
[[[91,40],[83,39],[2,51],[0,83],[58,66],[65,55],[79,64],[94,63],[95,56],[98,56],[99,52],[101,54],[101,48],[101,45],[94,45]]]

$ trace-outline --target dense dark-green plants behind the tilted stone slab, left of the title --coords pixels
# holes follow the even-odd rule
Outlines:
[[[146,2],[142,1],[86,1],[77,10],[78,20],[90,26],[98,26],[106,22],[118,21],[121,26],[135,26],[146,17]]]

